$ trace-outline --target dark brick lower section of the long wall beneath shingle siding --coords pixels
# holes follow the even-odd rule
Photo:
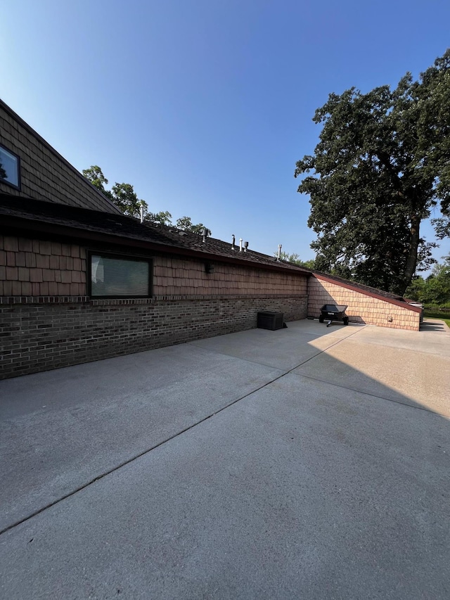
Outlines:
[[[93,300],[0,306],[0,378],[254,328],[259,310],[304,319],[307,298]]]

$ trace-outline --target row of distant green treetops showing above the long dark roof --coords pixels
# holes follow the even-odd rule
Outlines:
[[[94,187],[101,191],[103,196],[111,200],[124,215],[139,219],[141,217],[142,207],[145,221],[173,226],[172,215],[170,212],[168,210],[150,212],[146,201],[138,198],[134,191],[134,187],[131,184],[118,184],[116,181],[116,183],[111,186],[110,190],[106,189],[105,186],[108,185],[108,179],[103,175],[103,172],[98,165],[92,165],[89,169],[84,169],[82,173],[83,176],[90,181]],[[183,231],[191,231],[193,234],[202,234],[205,226],[203,223],[193,224],[191,217],[181,217],[180,219],[176,219],[175,227],[176,229],[182,229]],[[207,233],[209,236],[211,235],[210,229],[207,229]]]

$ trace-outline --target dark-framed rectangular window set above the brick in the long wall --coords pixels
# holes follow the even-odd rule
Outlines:
[[[150,295],[150,262],[91,255],[91,296]]]

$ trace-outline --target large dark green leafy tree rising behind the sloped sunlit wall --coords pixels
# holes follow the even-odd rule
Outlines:
[[[362,94],[354,88],[316,110],[314,155],[297,162],[310,197],[316,268],[403,294],[435,244],[420,223],[450,211],[450,50],[413,81]]]

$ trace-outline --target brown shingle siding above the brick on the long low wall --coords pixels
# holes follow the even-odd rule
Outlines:
[[[307,295],[305,276],[195,259],[153,258],[153,295]],[[86,248],[0,235],[0,296],[86,295]]]

